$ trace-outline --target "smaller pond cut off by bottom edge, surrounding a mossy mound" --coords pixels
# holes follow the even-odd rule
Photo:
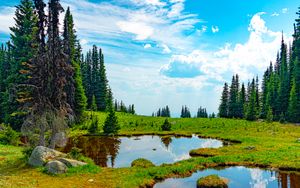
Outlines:
[[[300,188],[300,175],[262,170],[259,168],[230,167],[206,169],[187,178],[170,178],[157,183],[154,188],[196,188],[199,178],[216,174],[229,180],[229,188]]]

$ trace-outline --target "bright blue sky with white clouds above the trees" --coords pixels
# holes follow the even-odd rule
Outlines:
[[[218,112],[224,82],[260,78],[276,59],[282,31],[292,40],[299,0],[61,0],[84,51],[104,51],[114,97],[151,115],[169,105]],[[0,0],[0,43],[18,0]],[[63,18],[63,15],[61,15]]]

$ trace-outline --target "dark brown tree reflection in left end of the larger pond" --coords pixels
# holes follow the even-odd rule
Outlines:
[[[111,156],[111,165],[114,166],[121,141],[114,137],[83,136],[69,140],[64,152],[70,152],[72,147],[82,150],[82,154],[94,160],[95,164],[107,167],[108,156]]]

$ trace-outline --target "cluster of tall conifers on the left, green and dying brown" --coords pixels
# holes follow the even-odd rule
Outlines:
[[[117,122],[102,50],[83,55],[69,8],[59,30],[62,12],[59,0],[21,0],[10,41],[0,48],[0,123],[37,134],[40,145],[49,134],[51,147],[86,109],[110,112],[107,130]]]

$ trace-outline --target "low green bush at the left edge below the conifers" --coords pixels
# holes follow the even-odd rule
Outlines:
[[[10,126],[0,125],[0,144],[18,145],[19,134]]]

